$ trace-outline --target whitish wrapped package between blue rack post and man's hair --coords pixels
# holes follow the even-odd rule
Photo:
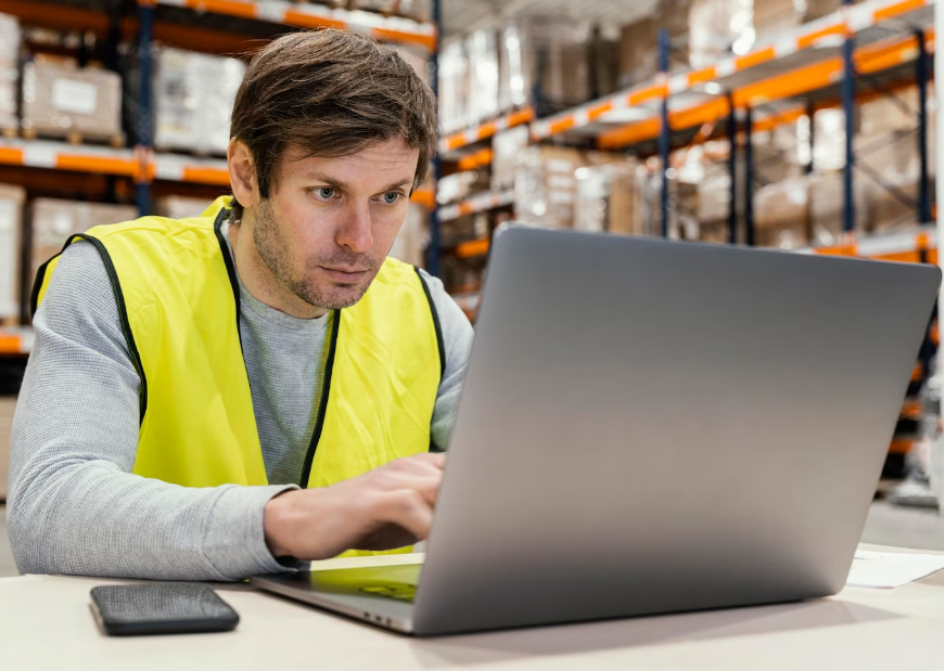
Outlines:
[[[154,145],[226,154],[230,114],[244,74],[237,59],[162,49],[154,77]]]

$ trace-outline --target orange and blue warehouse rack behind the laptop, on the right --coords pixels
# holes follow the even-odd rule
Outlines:
[[[754,242],[753,227],[753,152],[752,134],[758,130],[795,120],[807,107],[841,106],[847,112],[846,165],[843,184],[843,240],[837,247],[816,249],[825,254],[865,254],[895,257],[904,254],[900,247],[908,240],[908,254],[927,256],[922,241],[927,234],[914,232],[891,238],[878,236],[857,244],[852,234],[854,214],[854,168],[856,151],[853,144],[854,108],[863,95],[856,81],[872,76],[883,79],[906,78],[916,82],[919,96],[927,101],[931,74],[929,54],[934,48],[934,0],[867,0],[846,4],[841,11],[790,30],[771,43],[756,47],[741,56],[730,56],[697,70],[668,72],[669,42],[660,36],[661,73],[651,81],[574,107],[573,109],[530,122],[531,140],[549,140],[586,146],[591,143],[602,151],[635,151],[640,155],[656,154],[661,158],[662,181],[660,210],[663,235],[667,234],[669,154],[679,146],[726,136],[729,141],[728,170],[733,172],[737,155],[743,146],[748,179],[730,179],[731,211],[729,242]],[[886,88],[888,81],[878,85]],[[835,91],[839,89],[839,91]],[[794,102],[803,98],[806,105]],[[764,116],[760,113],[767,112]],[[632,115],[629,122],[613,122],[614,115]],[[931,221],[931,192],[928,179],[928,119],[926,105],[918,114],[918,141],[921,176],[916,210],[919,223]],[[459,169],[487,165],[490,153],[482,149],[482,139],[494,134],[494,124],[454,133],[441,143],[444,157]],[[710,132],[704,133],[709,127]],[[745,188],[738,190],[741,184]],[[886,185],[885,185],[886,186]],[[483,211],[483,204],[503,207],[502,194],[476,194],[446,212]],[[739,235],[737,203],[743,202],[744,231]],[[905,237],[902,237],[905,235]],[[891,241],[894,241],[892,244]],[[936,244],[936,238],[932,238]],[[883,244],[891,246],[885,249]],[[486,241],[474,241],[474,248],[487,250]],[[933,254],[933,249],[931,250]]]

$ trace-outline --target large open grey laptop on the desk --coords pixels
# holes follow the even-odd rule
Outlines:
[[[254,585],[421,636],[842,589],[936,267],[512,227],[488,268],[422,567]]]

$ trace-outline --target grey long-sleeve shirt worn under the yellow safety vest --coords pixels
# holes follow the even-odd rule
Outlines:
[[[438,280],[446,370],[432,422],[446,447],[472,326]],[[240,286],[243,350],[267,487],[197,489],[131,473],[138,389],[104,263],[87,243],[63,254],[34,320],[36,345],[11,436],[8,528],[24,573],[239,580],[285,570],[263,508],[297,486],[324,374],[330,314],[296,319]]]

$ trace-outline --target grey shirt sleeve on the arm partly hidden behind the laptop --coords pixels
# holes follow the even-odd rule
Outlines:
[[[446,293],[443,282],[420,270],[433,305],[439,315],[439,327],[443,330],[443,345],[446,348],[446,370],[439,383],[436,405],[433,410],[431,434],[433,442],[443,450],[449,447],[452,429],[456,426],[456,415],[459,412],[459,397],[462,395],[462,380],[469,366],[469,354],[472,352],[474,332],[472,324],[462,308]]]

